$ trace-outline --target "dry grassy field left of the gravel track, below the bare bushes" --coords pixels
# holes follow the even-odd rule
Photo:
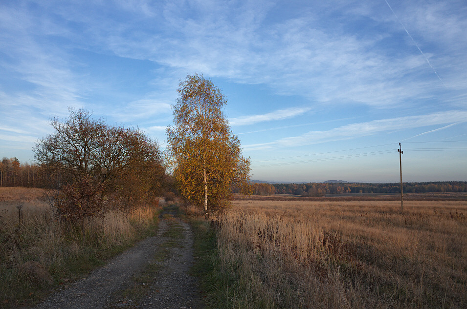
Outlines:
[[[0,188],[0,308],[34,303],[156,231],[154,206],[110,213],[84,227],[60,225],[40,200],[43,193]]]

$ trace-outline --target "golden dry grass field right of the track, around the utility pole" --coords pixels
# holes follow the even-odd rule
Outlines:
[[[467,203],[234,201],[233,308],[466,308]]]

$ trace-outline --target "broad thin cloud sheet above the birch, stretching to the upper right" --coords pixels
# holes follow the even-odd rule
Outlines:
[[[334,4],[318,7],[316,12],[304,9],[293,18],[272,23],[266,16],[274,4],[219,4],[213,1],[209,10],[194,4],[187,20],[185,13],[188,12],[183,4],[164,3],[157,27],[170,28],[170,38],[157,34],[146,38],[113,36],[109,46],[124,57],[147,57],[172,68],[201,71],[238,82],[264,83],[276,93],[300,93],[317,102],[350,101],[388,107],[421,96],[434,96],[433,91],[439,90],[427,72],[430,68],[425,67],[423,56],[412,52],[413,46],[397,46],[398,57],[394,57],[392,50],[388,51],[387,40],[400,32],[400,25],[394,23],[389,8],[387,14],[377,14],[377,7],[366,3],[365,10],[348,10],[344,13],[346,19],[329,27],[321,21],[331,14]],[[357,2],[348,4],[352,5],[362,6]],[[423,8],[436,11],[430,5],[424,4]],[[398,14],[401,18],[410,17],[411,9],[410,5],[402,7]],[[440,22],[445,16],[438,15],[437,22]],[[367,34],[342,30],[346,20],[362,17],[376,21],[376,27],[391,25],[392,28],[385,35],[373,35],[372,28],[365,29]],[[438,35],[440,29],[437,28]],[[437,55],[425,49],[426,58],[440,72],[448,65],[443,53],[454,43],[452,39],[450,44],[438,48]],[[415,78],[421,74],[426,77]]]

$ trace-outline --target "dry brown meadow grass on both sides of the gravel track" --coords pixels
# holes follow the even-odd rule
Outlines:
[[[0,188],[0,308],[68,285],[156,227],[154,206],[59,224],[43,193]],[[243,199],[200,222],[215,246],[198,258],[215,268],[208,308],[467,308],[465,200],[401,211],[379,198]]]

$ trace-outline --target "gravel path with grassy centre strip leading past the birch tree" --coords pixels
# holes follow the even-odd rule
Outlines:
[[[188,274],[194,261],[191,227],[174,214],[166,211],[164,216],[161,215],[163,219],[159,221],[156,236],[138,243],[106,266],[92,271],[87,278],[52,294],[35,308],[202,308],[197,280]],[[182,237],[174,239],[167,235],[171,227],[182,229]],[[167,246],[170,241],[172,246]],[[165,251],[162,259],[160,250]],[[156,266],[156,272],[148,271],[151,265]],[[147,283],[141,284],[135,279],[141,274],[150,276]],[[129,290],[133,294],[126,293]],[[139,295],[135,296],[134,291]]]

